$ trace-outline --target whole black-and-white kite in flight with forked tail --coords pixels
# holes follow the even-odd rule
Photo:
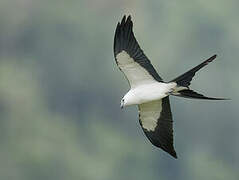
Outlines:
[[[121,100],[121,108],[138,105],[139,123],[150,142],[174,158],[173,120],[169,95],[192,99],[225,100],[206,97],[189,88],[195,73],[212,62],[216,55],[169,82],[164,82],[140,48],[133,33],[131,16],[123,17],[114,36],[114,57],[126,76],[130,90]]]

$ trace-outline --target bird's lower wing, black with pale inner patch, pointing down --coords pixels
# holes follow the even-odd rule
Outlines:
[[[139,105],[139,122],[150,142],[174,158],[173,120],[169,97]]]

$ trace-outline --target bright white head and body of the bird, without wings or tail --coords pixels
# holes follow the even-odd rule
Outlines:
[[[125,105],[139,105],[155,100],[160,100],[174,91],[176,83],[154,82],[131,88],[124,96]]]

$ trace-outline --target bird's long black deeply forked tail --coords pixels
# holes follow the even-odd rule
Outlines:
[[[171,95],[185,97],[185,98],[193,98],[193,99],[228,100],[226,98],[206,97],[202,94],[199,94],[199,93],[189,89],[189,85],[190,85],[195,73],[198,70],[200,70],[201,68],[203,68],[204,66],[206,66],[208,63],[212,62],[216,57],[217,57],[217,55],[213,55],[206,61],[202,62],[201,64],[197,65],[196,67],[192,68],[191,70],[185,72],[184,74],[175,78],[174,80],[170,81],[170,82],[177,83],[177,87],[171,93]]]

